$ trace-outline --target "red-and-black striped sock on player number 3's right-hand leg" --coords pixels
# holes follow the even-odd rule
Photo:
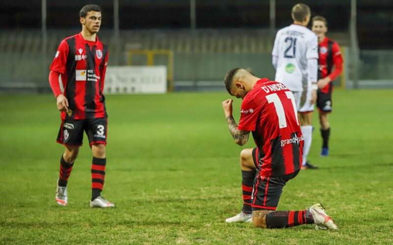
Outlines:
[[[101,195],[104,188],[106,158],[93,157],[91,164],[91,200]]]

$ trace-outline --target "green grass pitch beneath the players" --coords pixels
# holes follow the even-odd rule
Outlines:
[[[226,93],[107,96],[104,196],[90,209],[91,152],[84,138],[68,184],[55,202],[63,147],[52,95],[0,95],[0,244],[393,244],[393,90],[335,91],[331,156],[319,157],[314,115],[309,160],[284,187],[278,210],[321,202],[339,226],[258,229],[226,224],[239,212],[237,146],[221,102]],[[239,119],[241,100],[235,99]]]

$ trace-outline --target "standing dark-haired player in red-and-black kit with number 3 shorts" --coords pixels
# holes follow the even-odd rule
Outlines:
[[[105,180],[108,122],[102,91],[109,51],[97,37],[101,25],[101,8],[93,4],[85,5],[79,15],[82,32],[60,43],[49,74],[57,109],[61,111],[57,142],[65,146],[65,152],[60,158],[56,202],[67,205],[67,181],[85,131],[93,153],[90,207],[113,207],[114,204],[101,196]],[[64,93],[60,90],[59,76]]]

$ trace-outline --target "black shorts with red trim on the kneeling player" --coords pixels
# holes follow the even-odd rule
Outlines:
[[[259,159],[257,148],[253,149],[253,160],[257,167]],[[257,167],[258,169],[258,167]],[[254,179],[254,188],[251,207],[254,210],[276,210],[286,182],[294,178],[300,170],[282,176],[261,176],[257,174]]]

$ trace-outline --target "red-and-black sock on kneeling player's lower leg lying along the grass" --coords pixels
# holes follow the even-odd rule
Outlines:
[[[314,223],[314,219],[309,210],[274,211],[266,215],[267,228],[286,228],[312,223]]]

